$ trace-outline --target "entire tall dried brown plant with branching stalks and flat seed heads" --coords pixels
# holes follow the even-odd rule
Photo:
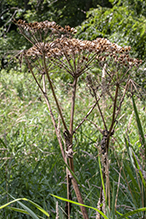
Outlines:
[[[46,100],[62,157],[67,166],[67,198],[71,199],[70,187],[72,183],[78,202],[83,204],[83,198],[74,170],[73,135],[97,106],[104,126],[104,129],[100,129],[100,131],[103,135],[101,152],[104,157],[103,178],[105,179],[110,136],[114,134],[114,126],[125,93],[129,86],[133,85],[129,72],[134,66],[138,67],[142,61],[129,56],[130,47],[120,47],[107,39],[97,38],[93,41],[76,39],[73,37],[75,30],[69,26],[63,28],[55,22],[49,21],[26,23],[19,20],[15,21],[15,23],[18,25],[20,33],[32,44],[30,49],[19,54],[19,58],[25,57],[28,69]],[[59,98],[54,88],[52,74],[55,72],[56,66],[60,68],[60,72],[63,72],[63,74],[69,74],[73,81],[71,85],[72,95],[69,123],[62,111],[62,106],[59,103]],[[94,83],[93,74],[90,74],[90,72],[92,72],[93,67],[96,68],[97,66],[102,69],[102,74],[94,75],[96,77]],[[77,85],[79,78],[83,74],[87,76],[87,84],[92,96],[95,98],[95,103],[75,128],[74,117]],[[52,92],[58,115],[61,119],[61,125],[57,125],[50,102],[49,90]],[[106,121],[108,119],[105,117],[105,113],[102,112],[100,105],[101,100],[104,100],[106,96],[105,94],[108,94],[113,102],[109,127]],[[104,106],[103,103],[102,106]],[[63,146],[63,142],[65,142],[65,146]],[[103,200],[102,188],[103,185],[101,187],[100,204]],[[83,218],[88,218],[86,208],[82,205],[80,205],[80,208]],[[65,211],[67,218],[70,218],[70,203],[67,204]]]

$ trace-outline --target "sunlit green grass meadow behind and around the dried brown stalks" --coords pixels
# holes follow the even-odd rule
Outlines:
[[[58,77],[54,80],[59,101],[63,104],[64,115],[68,121],[70,90],[68,91],[64,81],[59,82]],[[7,73],[4,70],[0,75],[0,95],[0,205],[12,201],[12,196],[15,199],[26,198],[40,205],[50,214],[50,218],[55,218],[56,202],[58,201],[60,218],[64,218],[65,203],[56,197],[53,198],[51,194],[66,198],[66,166],[61,157],[43,97],[30,75],[17,71]],[[58,116],[53,98],[51,97],[50,100],[57,121]],[[92,97],[89,96],[86,84],[83,82],[77,92],[75,124],[81,121],[83,115],[86,115],[92,102]],[[139,100],[136,101],[136,106],[145,133],[144,106]],[[131,116],[132,112],[133,116]],[[110,114],[107,116],[110,117]],[[102,127],[97,109],[89,116],[89,119]],[[126,140],[124,140],[124,136]],[[75,133],[73,140],[76,176],[81,184],[80,189],[85,204],[93,208],[97,207],[101,186],[98,151],[95,146],[100,139],[101,134],[96,127],[86,121]],[[126,145],[128,145],[128,149]],[[142,206],[142,194],[146,190],[144,190],[143,178],[137,171],[138,166],[134,168],[131,163],[130,148],[142,162],[141,141],[134,108],[132,100],[126,98],[110,150],[110,181],[111,193],[114,194],[114,198],[118,187],[120,167],[123,166],[117,201],[117,211],[121,214],[144,207]],[[77,201],[74,192],[72,199]],[[113,201],[115,200],[113,199]],[[47,218],[31,203],[25,202],[25,205],[36,215]],[[24,214],[26,212],[14,211],[13,207],[20,208],[20,205],[17,202],[13,203],[11,208],[1,209],[0,217],[7,219],[31,218],[30,215]],[[89,218],[95,218],[94,209],[88,209],[88,213]],[[109,218],[114,218],[112,211],[109,215]],[[142,215],[141,212],[137,212],[132,218],[142,218]],[[118,217],[115,215],[115,218]],[[72,208],[72,218],[82,218],[79,207],[76,205],[73,205]]]

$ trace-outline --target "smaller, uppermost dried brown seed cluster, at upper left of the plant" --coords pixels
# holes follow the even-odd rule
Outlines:
[[[61,27],[60,25],[56,24],[54,21],[50,22],[48,20],[43,22],[33,22],[33,23],[26,23],[24,20],[14,20],[14,23],[25,30],[29,31],[38,31],[38,30],[48,30],[51,29],[54,33],[63,32],[63,33],[72,33],[74,34],[76,30],[71,28],[70,26],[65,26],[65,28]]]

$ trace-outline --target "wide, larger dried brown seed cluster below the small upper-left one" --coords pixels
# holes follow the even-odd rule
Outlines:
[[[107,56],[110,56],[115,62],[125,66],[141,64],[142,60],[130,58],[128,54],[130,49],[131,47],[120,47],[103,38],[88,41],[62,37],[51,43],[37,43],[27,50],[26,55],[35,58],[45,53],[48,58],[59,58],[60,56],[74,56],[80,53],[82,54],[81,62],[88,62],[86,54],[93,53],[97,54],[96,59],[100,62],[106,61]]]

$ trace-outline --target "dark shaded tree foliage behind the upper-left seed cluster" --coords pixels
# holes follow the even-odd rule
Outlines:
[[[28,43],[17,32],[13,19],[27,22],[50,20],[65,26],[80,25],[86,19],[86,12],[97,4],[111,7],[101,0],[4,0],[0,2],[0,59],[1,68],[10,62],[9,54],[27,48]],[[25,45],[25,47],[24,47]]]

